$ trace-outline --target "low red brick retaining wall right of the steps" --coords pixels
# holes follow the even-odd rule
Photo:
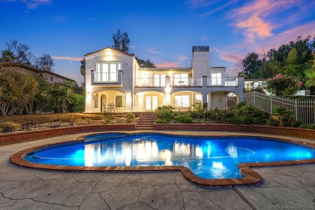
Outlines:
[[[315,139],[315,130],[289,127],[272,127],[257,125],[232,125],[232,124],[153,124],[155,131],[234,131],[257,132],[284,136]]]

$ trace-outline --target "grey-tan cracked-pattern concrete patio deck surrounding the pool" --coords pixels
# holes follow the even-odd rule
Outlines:
[[[209,131],[171,133],[244,135]],[[189,182],[179,171],[54,172],[21,168],[9,161],[20,150],[85,134],[88,133],[0,146],[0,210],[315,209],[315,164],[254,168],[263,177],[256,185],[202,187]]]

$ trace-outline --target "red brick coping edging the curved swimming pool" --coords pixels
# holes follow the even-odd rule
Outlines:
[[[144,131],[142,131],[143,133]],[[108,133],[108,132],[99,132],[100,133]],[[121,132],[120,133],[126,133]],[[151,132],[150,132],[151,133]],[[159,133],[159,132],[155,132]],[[129,134],[129,133],[126,133]],[[165,133],[164,133],[165,134]],[[95,134],[91,134],[95,135]],[[171,135],[171,134],[167,134]],[[307,160],[291,160],[291,161],[276,161],[276,162],[260,162],[260,163],[240,163],[238,168],[241,173],[244,174],[244,178],[232,178],[232,179],[203,179],[195,176],[192,171],[186,166],[63,166],[63,165],[49,165],[49,164],[40,164],[33,163],[23,159],[28,153],[43,149],[45,147],[51,147],[53,145],[63,145],[70,143],[81,143],[84,142],[84,137],[88,135],[82,135],[77,137],[76,140],[66,141],[55,144],[44,144],[41,146],[36,146],[32,148],[28,148],[22,151],[15,153],[10,157],[10,161],[13,164],[18,166],[34,168],[34,169],[44,169],[44,170],[54,170],[54,171],[98,171],[98,172],[152,172],[152,171],[181,171],[185,178],[191,181],[194,184],[202,185],[202,186],[235,186],[235,185],[252,185],[258,184],[261,182],[262,177],[255,172],[252,167],[263,167],[263,166],[284,166],[284,165],[294,165],[294,164],[311,164],[315,163],[315,159],[307,159]],[[196,135],[194,135],[196,136]],[[201,136],[201,135],[197,135]],[[202,135],[203,137],[214,137],[212,135]],[[241,135],[245,137],[249,137],[247,135]],[[251,136],[252,137],[252,136]],[[299,140],[291,140],[285,138],[277,138],[273,137],[273,139],[284,141],[288,143],[293,143],[297,145],[302,145],[306,147],[315,148],[315,143],[299,141]]]

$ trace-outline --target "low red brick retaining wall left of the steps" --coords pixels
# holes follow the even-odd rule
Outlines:
[[[32,141],[43,138],[50,138],[61,135],[68,135],[81,132],[93,131],[133,131],[136,124],[110,124],[110,125],[89,125],[73,126],[54,129],[42,129],[33,131],[18,131],[0,134],[0,145]]]

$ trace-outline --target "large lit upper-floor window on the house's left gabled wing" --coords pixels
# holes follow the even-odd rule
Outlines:
[[[118,70],[121,70],[121,62],[97,62],[95,82],[118,82]]]

